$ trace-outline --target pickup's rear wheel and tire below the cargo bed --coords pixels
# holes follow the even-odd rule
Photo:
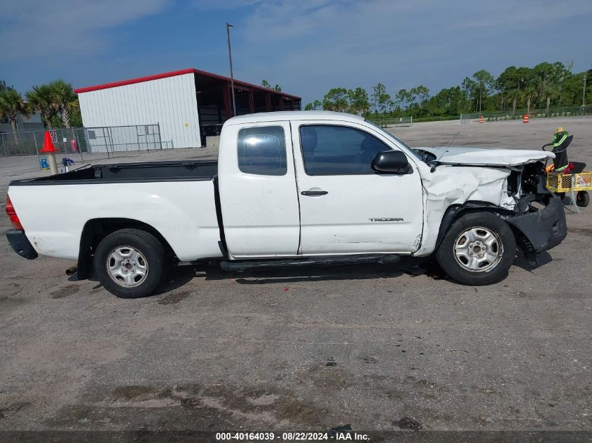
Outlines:
[[[165,274],[165,248],[149,232],[118,230],[100,241],[93,265],[99,281],[111,294],[146,297]]]

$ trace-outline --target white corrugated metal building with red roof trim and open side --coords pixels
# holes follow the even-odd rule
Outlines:
[[[237,115],[300,110],[301,97],[234,80]],[[233,116],[230,78],[182,69],[104,85],[79,87],[85,127],[153,125],[174,148],[205,146]]]

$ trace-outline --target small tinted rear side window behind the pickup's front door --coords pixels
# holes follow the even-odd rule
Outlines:
[[[286,136],[281,126],[240,129],[237,145],[238,168],[242,172],[265,176],[286,174]]]

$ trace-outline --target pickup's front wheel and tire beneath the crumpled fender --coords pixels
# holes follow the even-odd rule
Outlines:
[[[515,255],[516,239],[509,225],[493,213],[474,212],[450,226],[436,258],[458,283],[481,286],[504,279]]]

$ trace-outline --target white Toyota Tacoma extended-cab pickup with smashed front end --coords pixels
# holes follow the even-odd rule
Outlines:
[[[174,263],[223,269],[396,262],[434,255],[469,285],[503,279],[565,238],[533,150],[408,148],[355,115],[241,115],[218,161],[104,164],[13,181],[13,249],[77,260],[119,297]]]

